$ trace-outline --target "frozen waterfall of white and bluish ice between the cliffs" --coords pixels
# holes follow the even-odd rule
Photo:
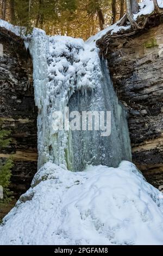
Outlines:
[[[122,160],[130,161],[127,112],[118,102],[106,62],[99,58],[95,43],[47,36],[41,29],[34,29],[29,49],[39,109],[38,168],[50,160],[70,170],[83,170],[86,164],[117,167]],[[80,114],[110,111],[110,136],[101,136],[95,129],[54,130],[53,113],[65,114],[65,107]]]

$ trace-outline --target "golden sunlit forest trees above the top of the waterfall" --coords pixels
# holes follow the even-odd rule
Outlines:
[[[135,11],[137,0],[128,0]],[[49,35],[86,40],[121,19],[127,0],[0,0],[1,19],[13,25],[39,27]],[[141,1],[138,1],[141,2]]]

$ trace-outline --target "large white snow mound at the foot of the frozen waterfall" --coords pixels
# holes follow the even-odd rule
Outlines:
[[[133,163],[70,172],[51,162],[0,227],[0,245],[162,245],[162,193]]]

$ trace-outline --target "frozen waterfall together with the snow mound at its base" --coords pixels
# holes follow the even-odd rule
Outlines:
[[[0,26],[20,32],[5,21]],[[3,218],[0,245],[163,245],[162,193],[133,163],[121,162],[131,160],[127,112],[99,58],[94,40],[102,33],[87,42],[47,36],[41,29],[23,36],[33,56],[41,168]],[[57,111],[64,118],[70,113],[59,131]],[[94,130],[79,129],[83,113],[92,111],[110,114],[109,136],[97,129],[101,115],[86,127]],[[78,129],[67,129],[72,120]]]

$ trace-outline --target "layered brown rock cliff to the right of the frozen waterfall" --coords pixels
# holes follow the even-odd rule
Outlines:
[[[133,162],[155,187],[163,185],[163,25],[104,47],[118,98],[129,109]],[[105,48],[105,51],[104,51]]]

